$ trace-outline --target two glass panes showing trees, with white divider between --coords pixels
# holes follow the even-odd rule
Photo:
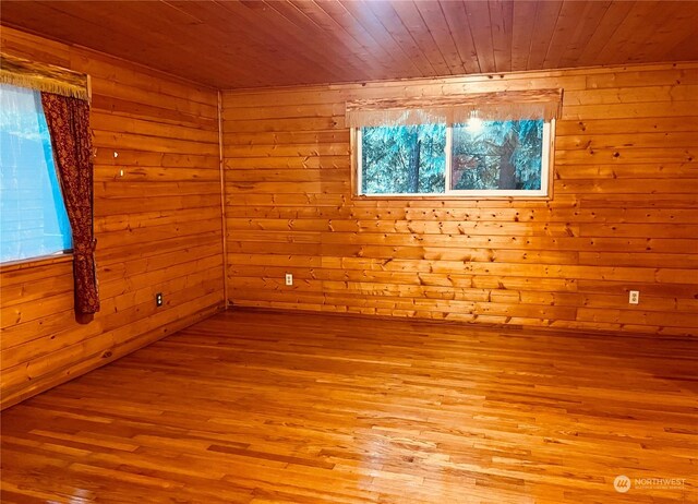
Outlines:
[[[363,127],[360,193],[545,196],[551,131],[543,119]]]

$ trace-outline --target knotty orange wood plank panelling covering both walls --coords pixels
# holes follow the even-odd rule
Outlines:
[[[237,305],[698,335],[698,63],[227,92],[224,232],[215,91],[0,37],[92,76],[103,300],[75,322],[69,257],[0,269],[2,407],[222,308],[224,235]],[[551,201],[352,197],[346,100],[537,87]]]

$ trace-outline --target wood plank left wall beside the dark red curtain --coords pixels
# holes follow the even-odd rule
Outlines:
[[[219,309],[224,275],[217,93],[5,27],[1,44],[92,75],[101,297],[81,325],[70,262],[2,268],[4,407]]]

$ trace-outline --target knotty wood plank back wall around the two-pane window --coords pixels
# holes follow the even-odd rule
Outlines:
[[[352,199],[347,99],[533,87],[552,201]],[[224,145],[236,305],[698,335],[698,63],[229,92]]]

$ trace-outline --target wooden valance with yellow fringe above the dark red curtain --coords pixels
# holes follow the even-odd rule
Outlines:
[[[87,75],[0,53],[0,83],[89,100]]]

